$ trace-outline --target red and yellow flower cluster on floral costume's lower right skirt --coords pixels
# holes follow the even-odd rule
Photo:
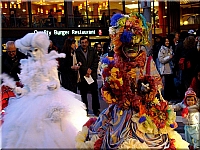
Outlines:
[[[138,129],[143,133],[166,134],[177,127],[176,114],[166,101],[160,101],[146,109],[142,114],[133,115],[132,120],[137,122]],[[141,109],[141,107],[140,107]],[[141,111],[141,110],[140,110]]]

